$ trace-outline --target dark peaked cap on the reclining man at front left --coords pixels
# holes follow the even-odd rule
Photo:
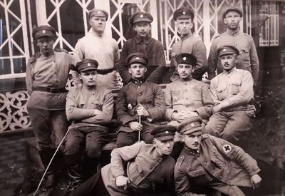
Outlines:
[[[172,125],[160,125],[151,131],[151,135],[157,140],[172,140],[174,138],[176,127]]]

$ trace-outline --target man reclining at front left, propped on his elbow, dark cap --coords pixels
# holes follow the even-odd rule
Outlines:
[[[151,132],[152,144],[142,141],[116,148],[110,164],[67,195],[175,195],[175,160],[170,156],[175,130],[160,125]]]

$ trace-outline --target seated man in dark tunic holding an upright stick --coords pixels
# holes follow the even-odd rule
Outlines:
[[[132,53],[127,64],[132,80],[120,89],[115,104],[121,123],[117,135],[118,148],[132,145],[140,136],[145,143],[152,143],[150,132],[165,115],[162,89],[145,78],[147,56]]]

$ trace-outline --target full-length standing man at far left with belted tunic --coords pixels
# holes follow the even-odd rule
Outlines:
[[[33,29],[33,38],[40,52],[28,59],[26,87],[30,98],[27,108],[41,161],[46,167],[68,127],[65,87],[73,57],[62,49],[53,50],[56,30],[51,26]],[[46,173],[46,187],[54,185],[54,167],[53,161]]]

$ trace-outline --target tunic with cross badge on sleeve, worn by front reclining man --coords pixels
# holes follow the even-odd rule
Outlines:
[[[185,146],[175,165],[176,195],[192,195],[190,180],[226,195],[244,195],[237,186],[251,187],[257,161],[232,143],[202,135],[199,150]],[[190,178],[190,179],[189,179]]]

